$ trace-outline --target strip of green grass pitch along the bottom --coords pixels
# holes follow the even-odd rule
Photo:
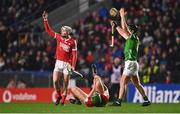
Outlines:
[[[84,105],[66,104],[54,106],[52,103],[0,103],[1,113],[180,113],[178,104],[152,104],[142,107],[138,103],[123,103],[121,107],[85,107]]]

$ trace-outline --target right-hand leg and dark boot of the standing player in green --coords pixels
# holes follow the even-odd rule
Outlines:
[[[138,89],[139,93],[142,95],[143,99],[144,99],[144,103],[142,104],[142,106],[148,106],[151,104],[151,102],[148,100],[148,97],[146,96],[143,86],[141,85],[140,81],[139,81],[139,77],[138,76],[132,76],[131,80],[134,84],[134,86]]]

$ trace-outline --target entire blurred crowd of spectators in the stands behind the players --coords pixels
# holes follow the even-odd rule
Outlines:
[[[26,4],[26,2],[30,4]],[[53,1],[53,0],[49,0]],[[127,21],[140,28],[139,65],[143,83],[180,82],[180,2],[176,0],[112,0],[112,6],[127,10]],[[44,0],[3,0],[0,10],[0,71],[49,70],[54,68],[54,41],[45,41],[42,28],[21,22],[25,15],[47,6]],[[24,6],[24,7],[21,7]],[[39,5],[38,5],[39,6]],[[5,8],[4,8],[5,7]],[[2,16],[3,15],[3,16]],[[104,82],[111,83],[113,67],[123,67],[124,39],[116,33],[110,47],[111,26],[108,9],[87,13],[73,25],[78,42],[77,70],[89,75],[96,64]],[[38,43],[37,43],[38,42]],[[114,62],[119,59],[118,65]],[[115,63],[115,64],[114,64]]]

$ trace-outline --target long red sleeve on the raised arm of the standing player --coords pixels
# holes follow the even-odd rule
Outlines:
[[[44,19],[44,28],[46,32],[49,34],[49,36],[53,38],[57,38],[57,33],[53,31],[53,29],[49,26],[48,20]]]

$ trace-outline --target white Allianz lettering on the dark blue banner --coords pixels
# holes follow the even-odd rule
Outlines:
[[[156,86],[146,86],[144,90],[152,103],[180,103],[180,90],[157,90]],[[133,102],[143,102],[143,98],[137,89]]]

